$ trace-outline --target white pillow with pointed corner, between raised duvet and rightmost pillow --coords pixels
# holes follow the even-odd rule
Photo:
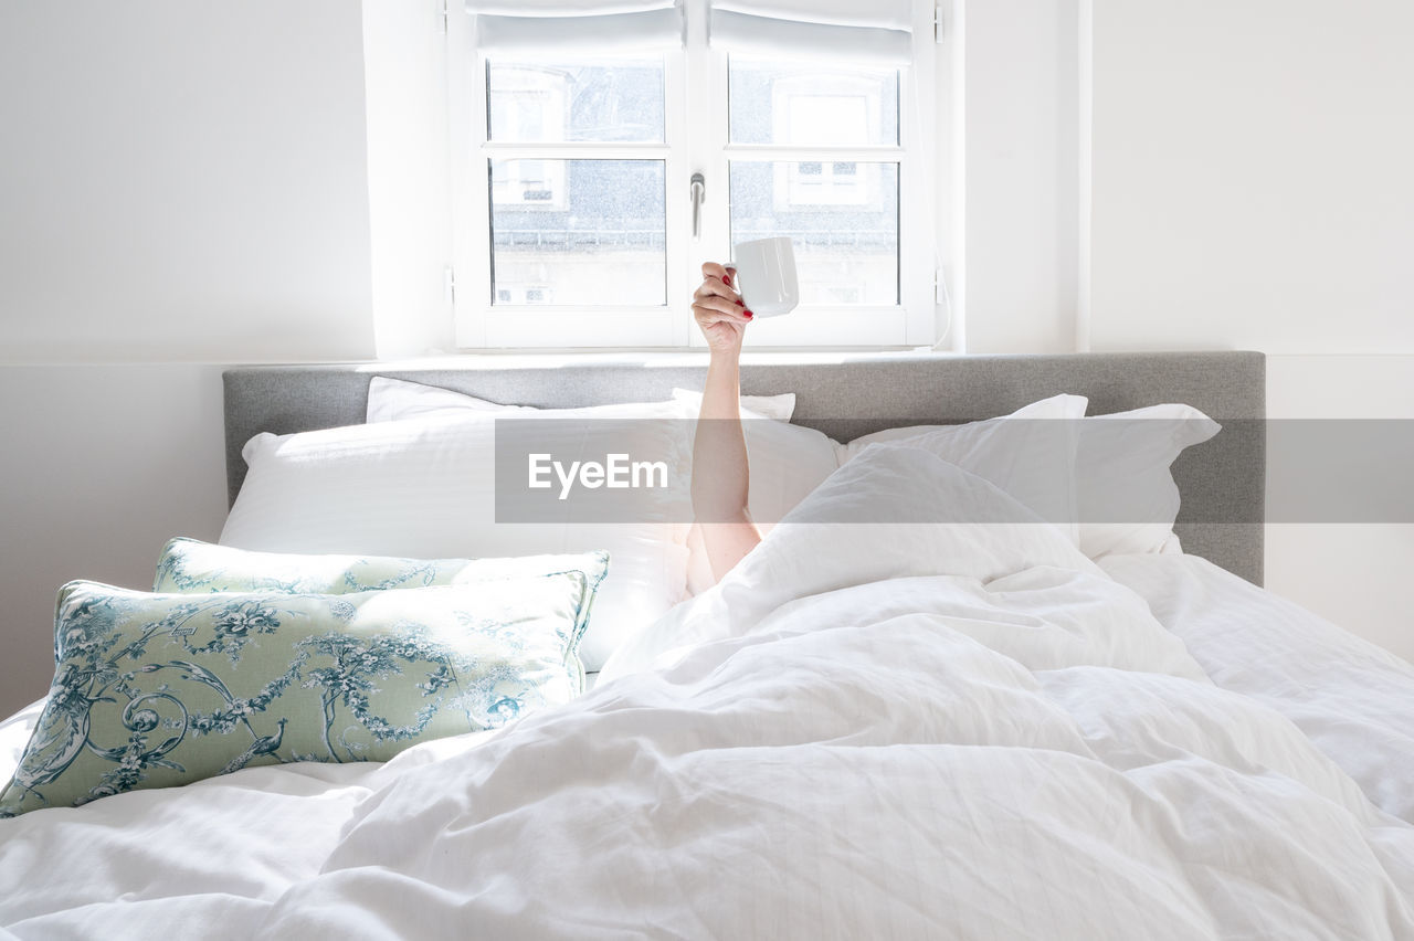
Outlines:
[[[840,445],[840,463],[858,456],[871,444],[925,448],[1010,493],[1079,545],[1075,462],[1080,422],[1076,420],[1085,415],[1087,404],[1083,396],[1062,394],[1034,401],[1001,418],[885,428]],[[921,500],[928,497],[919,495]]]

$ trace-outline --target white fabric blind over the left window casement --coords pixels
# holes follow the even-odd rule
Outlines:
[[[680,0],[467,0],[486,51],[578,54],[682,45]]]

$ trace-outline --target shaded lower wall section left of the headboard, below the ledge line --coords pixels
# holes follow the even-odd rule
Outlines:
[[[72,578],[151,591],[173,535],[226,517],[221,369],[0,367],[0,712],[44,695],[54,595]]]

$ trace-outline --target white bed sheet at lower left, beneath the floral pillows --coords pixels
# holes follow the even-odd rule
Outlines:
[[[6,780],[41,706],[0,725]],[[0,924],[18,937],[255,937],[383,783],[492,735],[430,742],[386,764],[246,769],[0,821]]]

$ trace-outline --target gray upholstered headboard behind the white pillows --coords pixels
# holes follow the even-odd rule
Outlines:
[[[226,475],[235,500],[255,434],[359,424],[372,376],[392,376],[540,407],[667,398],[701,389],[706,363],[684,356],[619,355],[508,360],[495,355],[427,365],[256,366],[225,373]],[[748,394],[796,393],[796,424],[850,441],[881,428],[1007,414],[1075,393],[1089,414],[1181,401],[1223,424],[1216,438],[1174,465],[1182,495],[1178,535],[1203,555],[1261,584],[1266,495],[1266,359],[1261,353],[1072,353],[1063,356],[822,355],[806,362],[752,362]]]

